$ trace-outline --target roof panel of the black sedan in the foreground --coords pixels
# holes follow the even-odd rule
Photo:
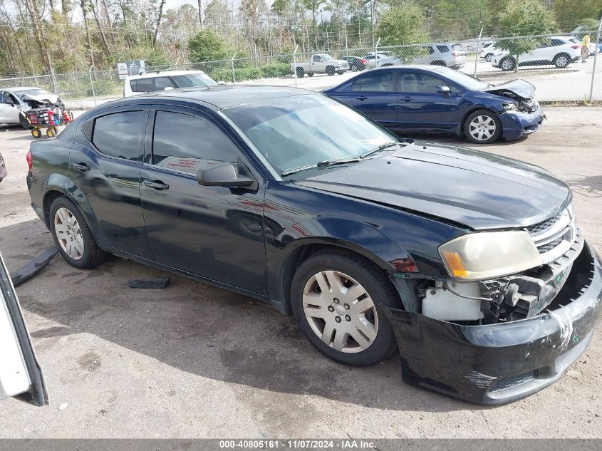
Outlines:
[[[119,100],[118,102],[130,103],[134,100],[143,100],[148,98],[192,100],[212,105],[214,108],[221,110],[246,103],[258,102],[259,100],[306,94],[315,94],[315,92],[306,89],[286,88],[282,86],[212,85],[206,87],[157,91],[154,93],[135,95],[124,100]],[[113,103],[113,105],[115,104],[116,103]]]

